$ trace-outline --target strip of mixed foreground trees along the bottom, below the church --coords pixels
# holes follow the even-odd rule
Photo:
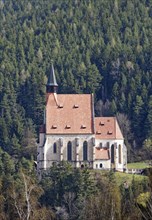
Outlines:
[[[1,220],[150,220],[152,173],[117,183],[115,174],[51,167],[41,181],[32,162],[0,151]]]

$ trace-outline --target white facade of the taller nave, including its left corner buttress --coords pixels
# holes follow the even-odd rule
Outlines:
[[[83,144],[87,142],[87,160],[83,160]],[[73,167],[87,165],[93,168],[94,135],[45,135],[40,134],[38,146],[38,169],[47,169],[54,163],[68,160],[68,143],[71,142],[72,152],[69,162]],[[56,148],[56,149],[54,149]]]

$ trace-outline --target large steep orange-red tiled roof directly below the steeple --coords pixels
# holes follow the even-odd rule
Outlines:
[[[90,94],[49,94],[46,134],[94,133],[92,99]]]

